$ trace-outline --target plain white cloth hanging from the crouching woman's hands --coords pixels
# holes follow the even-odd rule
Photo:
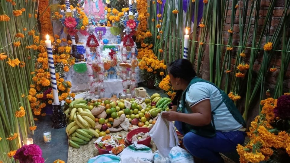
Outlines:
[[[168,156],[172,147],[179,145],[174,124],[162,118],[162,112],[159,114],[149,135],[163,157]]]

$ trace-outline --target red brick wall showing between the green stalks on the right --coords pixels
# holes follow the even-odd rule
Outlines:
[[[276,1],[276,4],[275,4],[275,7],[274,7],[274,11],[273,11],[273,16],[272,16],[272,22],[271,22],[271,28],[270,28],[270,39],[272,38],[272,35],[279,23],[279,20],[281,18],[281,16],[283,15],[283,12],[284,12],[284,0],[277,0]],[[250,6],[251,6],[251,3],[252,1],[249,2],[249,8],[247,9],[248,12],[247,12],[247,17],[249,16],[250,14]],[[229,4],[230,8],[228,10],[228,13],[227,13],[227,18],[226,18],[226,21],[225,21],[225,26],[224,26],[224,44],[227,44],[228,43],[228,38],[229,38],[229,33],[227,30],[230,29],[230,20],[231,20],[231,6],[232,6],[232,3],[230,2]],[[234,4],[235,6],[235,4]],[[240,2],[240,5],[239,6],[243,6]],[[261,31],[262,29],[262,26],[263,26],[263,23],[265,21],[265,16],[266,16],[266,13],[267,13],[267,10],[268,10],[268,7],[269,7],[269,0],[261,0],[261,6],[260,6],[260,12],[259,12],[259,27],[258,27],[258,32]],[[243,8],[241,8],[241,10],[243,10]],[[241,11],[242,12],[242,11]],[[254,14],[255,15],[255,14]],[[255,19],[255,17],[253,17]],[[246,21],[247,23],[247,21]],[[251,27],[253,27],[254,25],[254,21],[251,22]],[[239,41],[240,41],[240,36],[239,36],[239,10],[237,10],[236,14],[235,14],[235,20],[234,20],[234,26],[233,26],[233,29],[234,31],[233,33],[233,42],[232,42],[232,45],[238,45],[239,44]],[[197,31],[197,34],[200,35],[200,31],[198,30]],[[258,36],[260,36],[260,34],[258,34]],[[199,36],[198,36],[199,38]],[[252,46],[252,39],[253,39],[253,28],[251,28],[250,30],[250,35],[249,35],[249,38],[248,38],[248,42],[247,42],[247,47],[251,47]],[[207,40],[207,42],[209,42],[209,40]],[[262,45],[260,48],[263,48],[264,44],[266,43],[266,37],[263,38],[262,40]],[[278,49],[281,49],[281,43],[279,43],[280,45],[278,46]],[[226,46],[225,46],[226,48]],[[233,67],[234,67],[234,63],[235,63],[235,58],[236,58],[236,50],[237,48],[234,48],[234,50],[232,51],[232,55],[231,55],[231,70],[233,71]],[[225,52],[225,50],[224,50]],[[250,49],[247,49],[245,51],[247,57],[245,58],[245,62],[246,63],[249,63],[249,60],[250,60]],[[288,53],[288,55],[290,55]],[[195,67],[197,67],[197,55],[195,56]],[[254,74],[253,74],[253,77],[255,77],[257,75],[257,72],[259,71],[259,68],[261,66],[261,63],[263,61],[263,50],[259,51],[258,53],[258,58],[255,60],[255,65],[254,65]],[[276,79],[277,79],[277,76],[280,72],[280,64],[281,64],[281,53],[280,52],[275,52],[275,55],[272,57],[272,60],[271,60],[271,64],[270,66],[268,67],[268,72],[267,72],[267,76],[266,76],[266,84],[265,84],[265,89],[267,89],[269,87],[269,90],[271,92],[273,92],[274,90],[274,87],[276,85]],[[269,69],[274,65],[274,67],[277,68],[277,71],[276,72],[269,72]],[[288,66],[288,70],[287,70],[287,73],[285,75],[285,78],[284,78],[284,89],[285,89],[285,92],[288,92],[289,91],[289,88],[290,88],[290,65],[285,65],[285,66]],[[225,68],[227,69],[227,67]],[[209,47],[207,44],[205,44],[205,53],[204,53],[204,56],[203,56],[203,59],[202,59],[202,64],[201,64],[201,69],[200,69],[200,74],[199,76],[204,78],[204,79],[207,79],[209,80]],[[231,74],[233,75],[233,74]],[[253,78],[253,80],[255,80],[255,78]],[[243,79],[242,82],[247,82],[247,78]],[[247,85],[245,85],[246,87]],[[246,88],[245,88],[246,89]],[[266,92],[265,92],[266,93]],[[245,96],[245,94],[241,94],[241,96]],[[239,109],[242,111],[243,110],[243,104],[244,104],[244,101],[241,100],[239,101],[238,103],[238,106],[239,106]],[[251,109],[249,110],[249,120],[248,122],[250,122],[251,120],[253,120],[253,118],[258,114],[259,112],[259,98],[257,98],[256,100],[256,106],[254,107],[254,109]]]

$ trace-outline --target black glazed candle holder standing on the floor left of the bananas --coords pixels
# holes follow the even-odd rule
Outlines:
[[[66,114],[63,113],[63,110],[61,109],[60,104],[55,105],[54,103],[52,104],[53,107],[53,116],[52,116],[52,121],[53,121],[53,128],[54,129],[60,129],[66,126]]]

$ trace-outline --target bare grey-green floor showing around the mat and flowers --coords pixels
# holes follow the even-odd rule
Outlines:
[[[163,90],[156,89],[148,89],[146,85],[139,83],[138,87],[144,87],[147,90],[149,95],[154,93],[159,93],[162,97],[167,97]],[[46,163],[53,163],[56,159],[63,160],[67,162],[68,155],[68,141],[67,135],[65,132],[65,128],[62,129],[53,129],[53,122],[50,119],[50,115],[43,117],[43,119],[39,119],[35,122],[37,126],[37,130],[34,133],[33,141],[34,144],[37,144],[42,149],[42,156]],[[43,132],[51,131],[52,141],[48,144],[45,144],[43,141]],[[225,154],[228,158],[231,158],[235,162],[239,162],[237,153],[229,153]]]

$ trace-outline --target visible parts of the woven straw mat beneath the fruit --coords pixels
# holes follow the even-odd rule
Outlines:
[[[126,138],[127,131],[120,131],[118,133],[110,133],[109,135],[120,135],[123,138]],[[94,142],[97,140],[97,138],[93,138],[91,141],[89,141],[86,145],[80,145],[80,148],[73,148],[69,145],[69,153],[67,156],[67,162],[68,163],[86,163],[90,158],[93,158],[97,155],[99,155],[98,149],[96,148]],[[151,140],[151,150],[152,153],[154,153],[157,150],[156,145]]]

